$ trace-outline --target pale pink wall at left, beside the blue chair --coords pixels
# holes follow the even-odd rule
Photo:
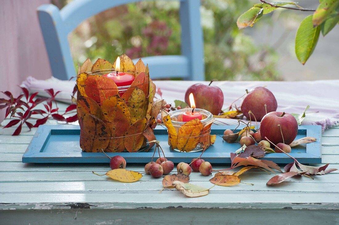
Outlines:
[[[51,69],[36,13],[50,0],[1,0],[0,91],[19,94],[17,85],[28,76],[51,77]],[[3,94],[0,93],[0,97]],[[0,121],[4,117],[0,111]]]

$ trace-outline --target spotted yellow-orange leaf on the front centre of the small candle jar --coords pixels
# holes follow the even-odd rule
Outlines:
[[[177,148],[185,152],[195,149],[199,143],[202,129],[203,125],[198,118],[185,122],[178,131]]]

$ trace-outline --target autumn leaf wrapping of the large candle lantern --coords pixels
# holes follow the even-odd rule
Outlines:
[[[149,78],[148,66],[141,59],[134,65],[127,55],[119,59],[120,71],[135,76],[125,90],[103,76],[114,71],[116,62],[98,59],[92,65],[87,59],[79,65],[77,112],[84,152],[137,152],[147,140],[155,140],[153,128],[162,100],[153,103],[156,87]]]

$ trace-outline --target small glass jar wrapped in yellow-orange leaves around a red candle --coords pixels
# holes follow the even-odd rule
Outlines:
[[[163,117],[167,127],[168,144],[172,150],[179,152],[198,152],[206,150],[214,143],[216,135],[210,135],[214,118],[211,112],[204,109],[194,109],[202,114],[202,119],[182,121],[183,114],[192,109],[180,109],[169,112]]]

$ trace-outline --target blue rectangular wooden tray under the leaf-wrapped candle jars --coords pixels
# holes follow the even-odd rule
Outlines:
[[[234,129],[234,126],[218,126],[213,125],[211,134],[222,135],[225,129]],[[239,131],[239,129],[236,130]],[[163,148],[166,158],[174,163],[191,162],[193,158],[199,157],[201,152],[176,152],[169,149],[167,143],[167,130],[164,127],[157,126],[154,130],[157,140]],[[106,163],[109,159],[103,153],[87,153],[82,152],[79,145],[80,127],[72,125],[59,126],[40,126],[35,133],[31,143],[24,155],[22,162],[26,163]],[[292,148],[293,157],[300,163],[321,163],[321,126],[299,126],[296,139],[302,137],[315,137],[317,141],[298,145]],[[217,136],[214,145],[208,148],[202,158],[211,163],[231,163],[230,153],[240,148],[239,143],[227,143]],[[151,161],[154,147],[148,152],[122,152],[107,153],[113,157],[120,155],[126,159],[127,163],[147,163]],[[159,157],[155,155],[155,159]],[[266,154],[261,159],[272,160],[275,163],[290,163],[293,160],[284,153]]]

